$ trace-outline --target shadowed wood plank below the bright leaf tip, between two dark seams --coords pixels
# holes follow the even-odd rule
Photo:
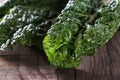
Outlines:
[[[44,54],[25,47],[20,49],[19,72],[24,80],[75,80],[74,69],[57,69]]]

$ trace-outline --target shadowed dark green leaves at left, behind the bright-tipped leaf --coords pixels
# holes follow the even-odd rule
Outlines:
[[[0,49],[16,43],[37,46],[55,22],[67,0],[8,0],[0,7]]]

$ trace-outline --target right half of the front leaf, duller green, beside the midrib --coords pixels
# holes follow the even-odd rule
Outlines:
[[[112,7],[111,7],[112,6]],[[107,43],[120,27],[120,1],[111,1],[101,8],[101,14],[94,25],[87,24],[83,34],[79,33],[75,41],[75,53],[85,56],[93,55],[97,48]]]

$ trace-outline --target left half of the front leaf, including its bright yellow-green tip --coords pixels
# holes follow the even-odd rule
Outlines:
[[[93,0],[69,0],[56,22],[48,30],[43,47],[51,64],[58,67],[74,67],[80,64],[81,54],[74,52],[75,37],[84,30],[84,22],[98,6]]]

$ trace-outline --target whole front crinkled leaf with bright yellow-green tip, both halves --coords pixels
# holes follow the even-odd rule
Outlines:
[[[69,0],[43,40],[51,64],[75,67],[82,56],[93,55],[119,28],[119,7],[119,0],[108,4],[103,0]]]

